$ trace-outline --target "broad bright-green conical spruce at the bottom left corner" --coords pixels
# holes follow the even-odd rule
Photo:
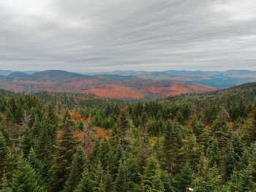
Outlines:
[[[18,167],[13,174],[11,188],[12,192],[45,191],[44,187],[39,185],[37,173],[22,156],[18,158]]]

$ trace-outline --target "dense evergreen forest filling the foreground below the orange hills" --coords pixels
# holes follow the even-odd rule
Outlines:
[[[256,191],[256,83],[127,103],[0,92],[0,191]]]

